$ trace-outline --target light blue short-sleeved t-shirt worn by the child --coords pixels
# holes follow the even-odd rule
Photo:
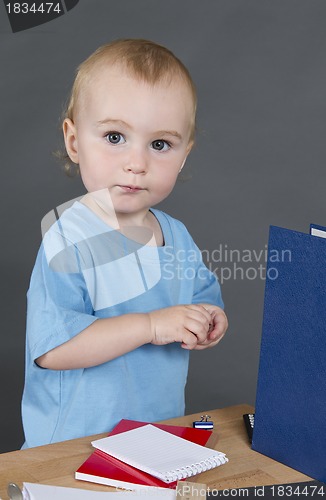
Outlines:
[[[179,343],[146,344],[85,369],[35,363],[98,318],[177,304],[223,307],[216,277],[185,226],[152,213],[162,247],[146,245],[146,234],[141,243],[128,239],[78,201],[43,238],[27,294],[24,447],[109,432],[122,418],[155,422],[184,414],[189,351]]]

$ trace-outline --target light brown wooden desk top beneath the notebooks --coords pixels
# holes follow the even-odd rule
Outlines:
[[[311,478],[308,476],[251,450],[242,419],[243,413],[251,412],[253,408],[249,405],[205,412],[211,415],[214,431],[218,433],[216,449],[226,453],[230,461],[200,474],[198,482],[211,489],[231,489],[309,481]],[[198,415],[166,420],[165,423],[191,427]],[[98,491],[111,490],[108,486],[74,479],[75,470],[93,451],[91,440],[105,435],[3,453],[0,455],[0,499],[8,498],[8,482],[16,482],[19,486],[26,481]]]

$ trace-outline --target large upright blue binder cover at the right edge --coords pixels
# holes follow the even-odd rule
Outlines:
[[[252,448],[326,481],[326,228],[271,226]]]

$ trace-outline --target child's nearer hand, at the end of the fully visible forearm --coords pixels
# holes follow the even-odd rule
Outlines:
[[[165,345],[172,342],[181,342],[181,347],[184,349],[197,349],[199,346],[206,347],[205,342],[208,341],[210,335],[208,333],[209,325],[212,322],[214,324],[213,318],[215,317],[207,309],[206,305],[189,304],[150,312],[151,343]],[[212,333],[217,335],[216,328]]]

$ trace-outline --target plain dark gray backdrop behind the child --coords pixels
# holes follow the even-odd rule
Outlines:
[[[13,34],[1,4],[1,452],[23,441],[25,295],[40,222],[84,192],[52,156],[75,67],[121,37],[162,43],[188,66],[199,96],[192,178],[161,208],[188,226],[220,275],[234,265],[229,250],[265,250],[270,224],[326,225],[325,16],[325,0],[80,0]],[[213,262],[221,248],[226,261]],[[235,263],[248,274],[222,284],[229,331],[214,350],[193,353],[188,413],[255,402],[264,259]]]

